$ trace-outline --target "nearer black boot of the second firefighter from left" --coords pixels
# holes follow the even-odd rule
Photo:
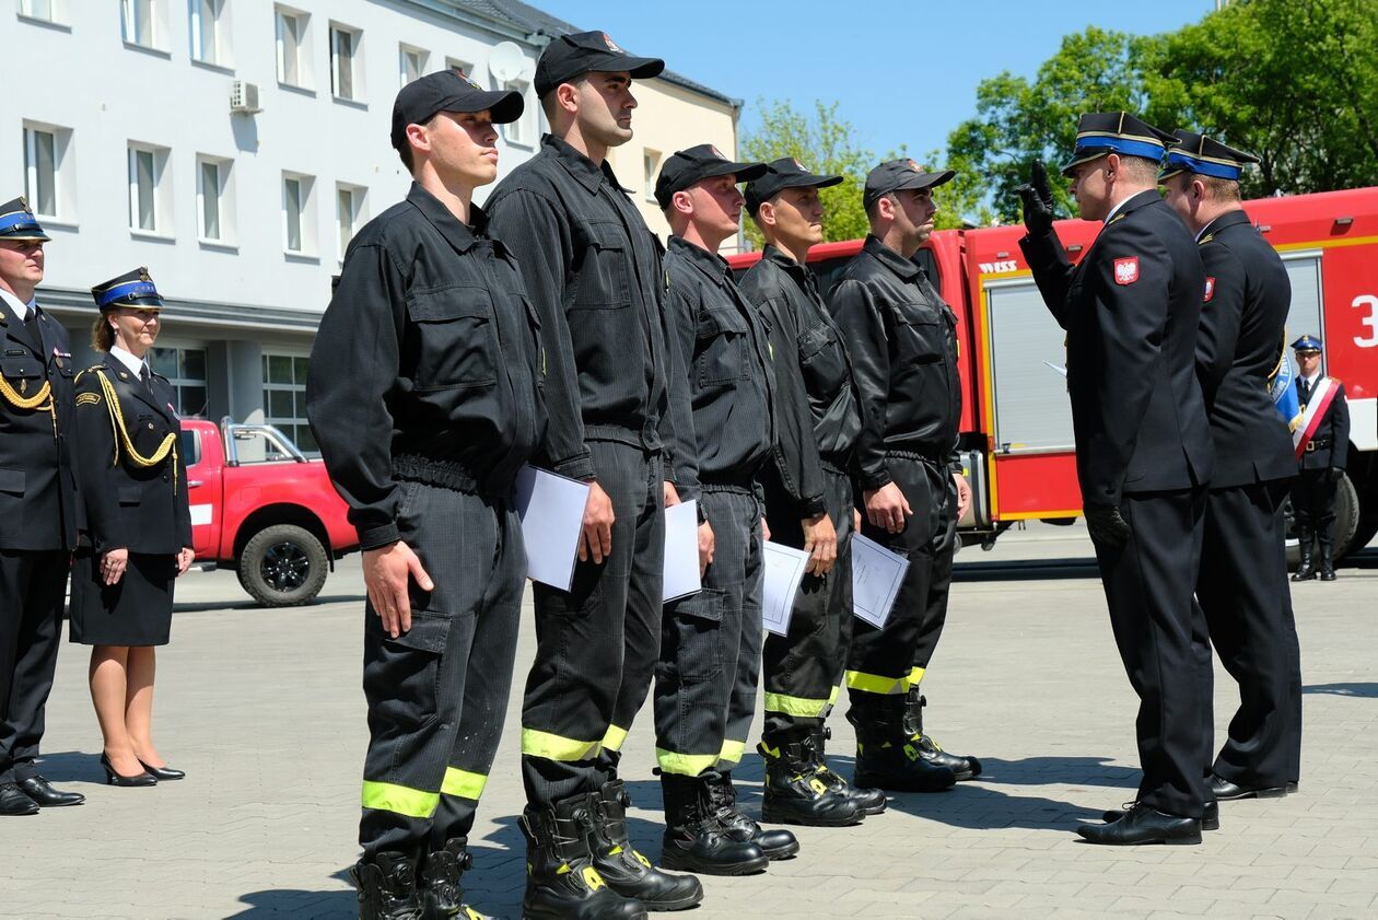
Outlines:
[[[554,810],[528,808],[522,814],[522,920],[646,920],[645,906],[609,888],[593,866],[588,834],[597,801],[597,793],[584,793],[557,801]]]

